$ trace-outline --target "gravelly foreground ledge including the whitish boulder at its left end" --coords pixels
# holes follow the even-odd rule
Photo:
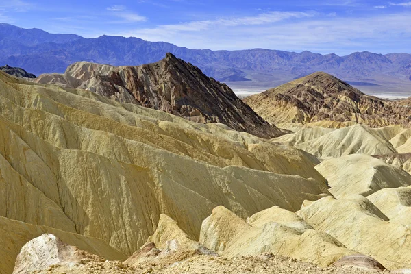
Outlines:
[[[34,254],[36,251],[36,254]],[[308,274],[365,274],[384,269],[372,258],[351,257],[333,267],[320,269],[307,262],[264,253],[259,256],[224,258],[200,255],[190,251],[160,251],[153,243],[145,245],[136,256],[140,264],[107,261],[77,247],[66,245],[52,234],[44,234],[25,245],[18,256],[14,273],[308,273]],[[163,254],[162,254],[163,253]],[[159,256],[159,254],[162,254]],[[153,258],[160,257],[160,260]],[[155,260],[153,262],[153,260]],[[356,260],[353,268],[347,263]]]

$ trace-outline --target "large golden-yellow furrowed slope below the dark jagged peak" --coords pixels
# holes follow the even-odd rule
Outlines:
[[[0,129],[0,216],[45,227],[41,234],[98,238],[127,256],[155,232],[160,214],[198,240],[216,206],[247,218],[329,194],[312,156],[297,149],[4,73]],[[12,243],[14,227],[1,228]],[[1,253],[14,250],[2,273],[32,236],[1,245]]]

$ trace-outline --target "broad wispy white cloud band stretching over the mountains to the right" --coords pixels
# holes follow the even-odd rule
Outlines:
[[[283,49],[347,53],[411,42],[411,12],[364,17],[271,12],[255,17],[192,21],[122,33],[192,49]],[[292,19],[292,20],[286,20]],[[118,33],[117,33],[118,34]]]

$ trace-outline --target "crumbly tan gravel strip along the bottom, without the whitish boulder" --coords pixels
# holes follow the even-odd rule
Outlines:
[[[64,245],[64,244],[63,244]],[[264,253],[258,256],[237,256],[235,258],[224,258],[216,256],[201,255],[192,251],[177,251],[164,255],[158,253],[153,243],[147,243],[140,249],[139,256],[141,262],[134,265],[119,261],[103,260],[91,254],[79,251],[83,257],[69,263],[57,263],[46,268],[39,266],[29,273],[38,274],[136,274],[136,273],[204,273],[204,274],[236,274],[236,273],[307,273],[307,274],[371,274],[374,269],[364,269],[358,267],[358,262],[350,264],[347,261],[342,266],[333,266],[327,269],[320,269],[318,266],[307,262],[284,257],[274,256],[271,253]],[[136,252],[137,254],[137,252]],[[85,257],[85,258],[84,258]],[[364,256],[365,257],[365,256]],[[47,258],[46,258],[47,259]],[[75,258],[77,259],[77,258]],[[371,259],[372,260],[372,259]],[[43,261],[42,261],[43,262]],[[368,264],[362,264],[362,266]],[[349,267],[345,267],[349,266]],[[354,268],[353,268],[354,266]],[[27,269],[27,271],[30,271]],[[23,272],[27,273],[27,272]],[[394,272],[408,273],[408,272]]]

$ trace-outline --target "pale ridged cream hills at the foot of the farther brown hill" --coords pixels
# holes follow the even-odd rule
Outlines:
[[[339,127],[339,123],[329,121],[295,125],[295,132],[273,138],[273,142],[294,146],[323,159],[356,153],[372,155],[411,172],[410,129],[399,125],[379,128],[366,125]]]

